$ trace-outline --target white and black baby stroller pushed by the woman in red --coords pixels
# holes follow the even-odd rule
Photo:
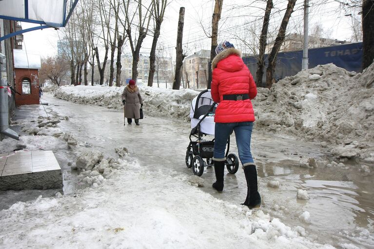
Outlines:
[[[188,168],[192,167],[192,172],[197,176],[202,175],[204,166],[213,166],[214,139],[206,141],[202,137],[214,135],[214,113],[216,107],[217,103],[213,101],[210,89],[202,91],[193,99],[191,104],[190,118],[192,130],[190,133],[190,144],[186,151],[186,166]],[[227,141],[225,165],[231,174],[235,174],[239,168],[239,160],[235,154],[229,154],[229,150],[230,137]],[[206,159],[206,161],[203,159]]]

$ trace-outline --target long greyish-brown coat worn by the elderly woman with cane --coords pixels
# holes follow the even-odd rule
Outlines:
[[[125,104],[125,118],[139,119],[140,118],[140,104],[143,104],[138,86],[131,89],[129,85],[125,86],[121,95],[122,100],[126,101]]]

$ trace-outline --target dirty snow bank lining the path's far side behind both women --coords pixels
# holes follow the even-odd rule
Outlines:
[[[374,163],[374,64],[356,74],[334,64],[301,71],[259,88],[253,100],[256,127],[266,132],[293,135],[331,147],[340,160]],[[198,92],[139,87],[145,115],[189,121],[192,99]],[[79,104],[122,109],[123,87],[63,86],[55,96]]]

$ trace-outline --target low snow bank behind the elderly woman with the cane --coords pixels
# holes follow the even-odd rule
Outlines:
[[[122,110],[121,94],[124,86],[62,86],[55,91],[55,97],[78,104],[96,104]],[[145,115],[172,117],[189,121],[192,100],[199,92],[191,89],[161,89],[139,86],[143,98]]]

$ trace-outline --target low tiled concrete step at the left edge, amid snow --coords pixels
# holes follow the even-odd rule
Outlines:
[[[0,190],[61,187],[61,167],[53,151],[17,151],[0,155]]]

